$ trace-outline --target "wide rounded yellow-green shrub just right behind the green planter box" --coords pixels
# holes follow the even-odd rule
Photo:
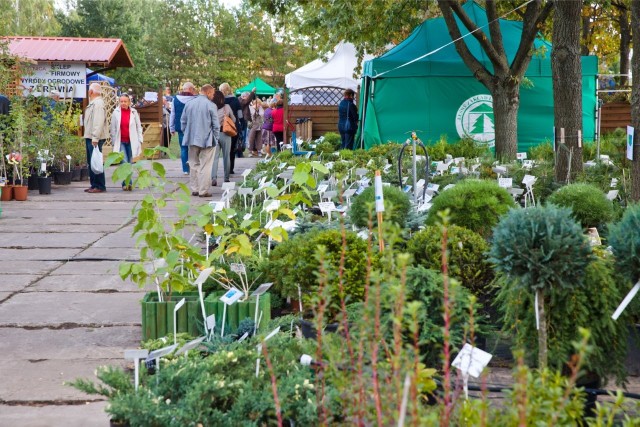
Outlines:
[[[348,302],[362,299],[366,276],[367,243],[355,233],[346,231],[343,285]],[[316,251],[325,248],[324,257],[329,269],[329,288],[335,305],[340,300],[337,273],[342,254],[342,235],[339,230],[311,231],[297,234],[280,243],[271,251],[269,263],[265,267],[265,277],[274,283],[276,291],[283,296],[298,299],[298,285],[302,289],[303,300],[311,297],[318,288],[318,268],[320,263]],[[335,310],[333,310],[335,313]]]

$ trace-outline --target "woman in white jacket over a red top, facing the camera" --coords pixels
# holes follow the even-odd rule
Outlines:
[[[124,153],[124,161],[133,163],[133,159],[142,152],[142,123],[140,115],[131,107],[129,95],[120,95],[120,106],[111,114],[111,143],[114,152]],[[124,191],[131,191],[131,181],[122,182]]]

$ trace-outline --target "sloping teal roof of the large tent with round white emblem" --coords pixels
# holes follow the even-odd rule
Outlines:
[[[475,1],[468,1],[463,9],[475,24],[489,36],[487,13]],[[469,31],[456,17],[460,33]],[[500,29],[505,52],[512,61],[520,44],[522,21],[500,19]],[[493,72],[491,61],[480,47],[480,43],[467,35],[464,38],[469,50],[488,70]],[[425,56],[426,55],[426,56]],[[424,57],[423,57],[424,56]],[[415,61],[409,64],[409,62]],[[400,67],[400,68],[398,68]],[[444,18],[424,21],[402,43],[384,55],[365,62],[364,75],[377,77],[419,76],[471,76],[471,71],[456,52],[451,42]],[[534,42],[534,54],[526,72],[527,76],[551,75],[551,43],[542,38]]]

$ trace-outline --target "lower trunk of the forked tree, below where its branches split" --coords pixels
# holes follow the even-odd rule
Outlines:
[[[490,88],[493,96],[493,118],[496,138],[496,158],[510,161],[518,151],[518,108],[520,85],[511,75],[495,78]]]

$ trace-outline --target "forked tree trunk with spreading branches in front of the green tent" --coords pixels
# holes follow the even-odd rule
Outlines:
[[[496,156],[498,158],[515,159],[516,157],[518,149],[517,116],[518,107],[520,106],[520,83],[531,61],[531,50],[538,27],[547,19],[553,7],[552,2],[548,2],[544,6],[542,3],[542,0],[528,3],[523,15],[520,45],[515,57],[509,63],[504,50],[495,1],[486,1],[487,18],[489,20],[489,34],[487,35],[466,14],[460,1],[438,0],[438,6],[442,10],[451,39],[455,40],[456,51],[473,72],[476,79],[493,96]],[[466,41],[461,38],[462,32],[454,15],[478,41],[487,58],[491,61],[491,65],[493,65],[493,72],[473,56],[467,47]]]

